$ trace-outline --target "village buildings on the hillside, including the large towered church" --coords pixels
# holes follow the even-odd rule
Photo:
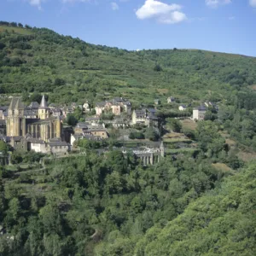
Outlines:
[[[167,103],[174,103],[172,96]],[[154,100],[159,105],[160,100]],[[212,102],[205,102],[193,109],[193,120],[205,118],[207,109],[216,106]],[[76,108],[95,115],[87,116],[84,122],[75,127],[65,127],[67,114],[74,113]],[[186,105],[178,105],[179,111],[188,110]],[[108,127],[125,129],[132,125],[160,128],[160,118],[156,115],[156,108],[131,108],[131,102],[123,97],[115,97],[105,102],[97,102],[95,108],[84,102],[75,102],[69,106],[47,104],[43,96],[41,104],[32,102],[24,106],[20,98],[13,98],[9,106],[0,107],[0,140],[9,143],[15,149],[34,150],[45,154],[67,154],[79,139],[101,141],[108,138]],[[102,114],[111,113],[113,119],[102,119]],[[143,156],[144,157],[144,156]],[[148,160],[149,159],[149,160]],[[152,158],[143,159],[153,162]]]

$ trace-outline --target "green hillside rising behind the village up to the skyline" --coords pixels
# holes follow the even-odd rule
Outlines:
[[[220,100],[256,84],[256,58],[202,50],[127,51],[84,43],[46,28],[0,27],[0,92],[51,92],[51,102],[132,102],[179,96]]]

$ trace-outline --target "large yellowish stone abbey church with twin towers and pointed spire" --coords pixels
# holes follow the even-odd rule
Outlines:
[[[61,119],[50,116],[50,111],[42,97],[41,104],[32,102],[25,107],[20,98],[13,98],[8,109],[8,137],[26,137],[27,134],[35,139],[49,142],[49,139],[61,139]]]

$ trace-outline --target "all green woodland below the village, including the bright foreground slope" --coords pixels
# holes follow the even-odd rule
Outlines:
[[[44,166],[14,153],[23,166],[1,168],[1,255],[254,255],[255,162],[243,167],[211,123],[195,131],[196,155],[156,166],[116,150]]]

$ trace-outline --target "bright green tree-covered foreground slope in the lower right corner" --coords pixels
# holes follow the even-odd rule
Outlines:
[[[255,172],[253,162],[192,201],[171,222],[162,220],[145,236],[120,236],[102,243],[96,255],[255,255]]]

